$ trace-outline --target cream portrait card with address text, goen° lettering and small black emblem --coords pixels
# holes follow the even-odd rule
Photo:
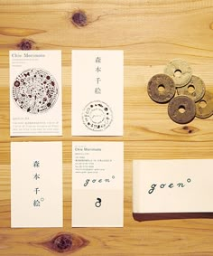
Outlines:
[[[123,142],[72,143],[72,226],[122,227]]]

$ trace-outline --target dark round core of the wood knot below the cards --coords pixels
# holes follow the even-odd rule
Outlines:
[[[60,234],[52,241],[52,249],[55,251],[69,251],[72,246],[72,238],[69,234]]]

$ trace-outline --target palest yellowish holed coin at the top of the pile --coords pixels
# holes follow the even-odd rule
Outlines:
[[[173,79],[176,87],[186,85],[190,81],[192,75],[188,62],[179,59],[171,61],[165,67],[164,72]]]

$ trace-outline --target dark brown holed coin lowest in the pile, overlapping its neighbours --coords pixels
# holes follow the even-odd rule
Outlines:
[[[195,102],[187,96],[177,96],[168,105],[168,114],[178,124],[190,123],[195,117]]]

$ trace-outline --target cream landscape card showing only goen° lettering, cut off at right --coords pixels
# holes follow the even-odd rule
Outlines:
[[[134,213],[213,212],[213,159],[134,160]]]

